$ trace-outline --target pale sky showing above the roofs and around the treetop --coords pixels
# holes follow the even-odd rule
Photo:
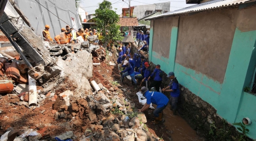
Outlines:
[[[87,11],[89,14],[94,14],[94,10],[98,8],[99,3],[101,3],[103,0],[82,0],[82,3],[80,6],[84,8],[85,11]],[[128,0],[109,0],[112,3],[113,10],[117,12],[117,14],[122,13],[122,8],[128,8],[129,3]],[[131,6],[137,6],[137,5],[146,5],[146,4],[154,4],[154,3],[162,3],[162,2],[171,2],[170,10],[174,11],[180,8],[192,6],[193,4],[186,4],[186,0],[131,0]],[[117,9],[115,9],[117,8]]]

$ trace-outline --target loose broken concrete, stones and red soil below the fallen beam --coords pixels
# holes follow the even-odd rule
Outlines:
[[[97,57],[91,53],[98,53]],[[52,58],[55,63],[51,66],[27,69],[37,79],[37,106],[27,104],[27,84],[19,83],[12,94],[1,97],[0,134],[17,129],[14,141],[56,141],[56,137],[74,141],[158,141],[148,132],[146,116],[137,113],[135,104],[125,97],[124,93],[131,91],[113,83],[109,74],[116,76],[118,72],[109,62],[116,62],[115,56],[98,48],[92,52],[74,50]],[[101,65],[92,66],[93,60]],[[99,91],[92,88],[92,80]]]

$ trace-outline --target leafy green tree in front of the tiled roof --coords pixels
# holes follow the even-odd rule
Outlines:
[[[104,47],[107,44],[113,45],[122,39],[122,34],[119,31],[120,25],[118,25],[119,15],[111,8],[111,2],[103,0],[102,3],[99,3],[99,8],[95,10],[96,25],[102,32]]]

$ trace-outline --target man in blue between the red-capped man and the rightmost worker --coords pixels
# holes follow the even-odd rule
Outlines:
[[[155,87],[155,91],[158,91],[158,92],[159,92],[159,87],[162,83],[161,71],[162,70],[160,69],[160,65],[156,65],[154,72],[147,79],[149,80],[151,77],[155,75],[153,83],[150,84],[150,88]]]

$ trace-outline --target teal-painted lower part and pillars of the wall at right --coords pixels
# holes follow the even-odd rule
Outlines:
[[[174,71],[180,84],[216,108],[217,114],[230,124],[249,117],[253,123],[247,125],[250,130],[248,137],[256,139],[256,96],[243,91],[244,87],[250,86],[255,71],[256,30],[241,32],[236,28],[225,78],[223,83],[219,83],[200,72],[175,63],[178,27],[171,28],[169,58],[149,50],[149,61],[161,65],[166,74]],[[154,34],[153,29],[150,32],[151,35]],[[149,48],[152,49],[152,44]]]

